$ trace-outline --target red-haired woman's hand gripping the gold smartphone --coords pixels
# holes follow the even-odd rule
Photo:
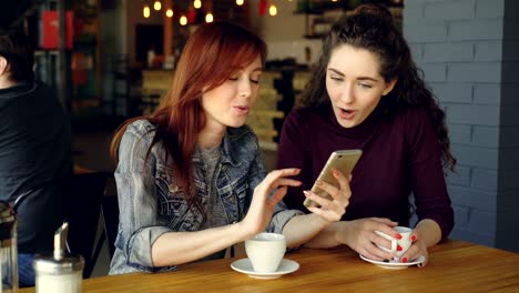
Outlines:
[[[343,218],[344,213],[346,212],[346,208],[349,204],[349,198],[352,196],[352,190],[349,189],[352,174],[346,178],[343,173],[340,173],[340,171],[336,169],[333,170],[333,174],[339,183],[338,188],[324,181],[316,182],[320,190],[327,192],[332,196],[332,200],[322,198],[312,191],[304,191],[306,198],[320,205],[318,208],[307,206],[307,209],[311,212],[319,215],[328,223],[339,221]]]

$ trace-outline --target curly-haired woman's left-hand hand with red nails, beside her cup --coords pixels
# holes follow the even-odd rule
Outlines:
[[[394,235],[396,232],[393,228],[398,224],[397,222],[393,222],[386,218],[365,218],[346,223],[347,228],[345,231],[336,235],[340,243],[348,245],[359,254],[374,261],[391,260],[394,257],[390,252],[377,246],[390,249],[391,242],[375,233],[375,231]]]

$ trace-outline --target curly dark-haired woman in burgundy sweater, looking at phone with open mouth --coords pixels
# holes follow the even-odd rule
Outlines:
[[[391,228],[409,225],[413,194],[415,242],[400,260],[424,255],[425,265],[427,249],[454,225],[442,168],[454,169],[456,160],[445,113],[381,6],[360,6],[333,26],[309,83],[285,120],[277,168],[299,168],[296,178],[303,182],[288,189],[288,208],[304,209],[303,190],[313,185],[329,154],[344,149],[363,150],[347,186],[348,209],[343,221],[307,245],[346,244],[368,259],[390,260],[394,255],[377,246],[390,247],[389,241],[375,231],[398,238]]]

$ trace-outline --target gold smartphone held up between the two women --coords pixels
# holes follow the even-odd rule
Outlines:
[[[317,178],[317,180],[324,181],[337,188],[339,184],[337,180],[335,179],[332,170],[337,169],[345,176],[349,175],[349,173],[352,173],[353,169],[355,168],[355,164],[357,163],[358,159],[360,159],[362,154],[363,154],[362,150],[340,150],[340,151],[333,152],[329,155],[328,161],[326,162],[325,166],[320,171],[320,174]],[[327,192],[317,188],[315,183],[314,183],[314,186],[312,186],[312,192],[316,193],[317,195],[322,198],[329,199],[329,200],[332,199],[332,196]],[[305,206],[317,206],[317,208],[320,206],[320,204],[312,201],[311,199],[305,199],[303,204]]]

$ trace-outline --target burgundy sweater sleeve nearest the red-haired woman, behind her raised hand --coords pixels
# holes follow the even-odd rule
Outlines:
[[[288,209],[295,209],[304,212],[308,210],[303,205],[305,195],[303,190],[309,189],[312,169],[309,168],[309,155],[306,155],[303,148],[305,144],[304,130],[302,129],[303,117],[298,112],[291,112],[283,123],[283,130],[277,146],[277,169],[299,168],[301,173],[295,176],[303,182],[301,186],[288,188],[284,202]],[[308,143],[308,142],[306,142]]]

